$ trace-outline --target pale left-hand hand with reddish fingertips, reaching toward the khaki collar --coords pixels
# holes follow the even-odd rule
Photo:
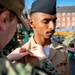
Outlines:
[[[11,61],[16,61],[28,54],[29,54],[29,52],[25,48],[16,48],[13,52],[11,52],[7,56],[7,58]]]

